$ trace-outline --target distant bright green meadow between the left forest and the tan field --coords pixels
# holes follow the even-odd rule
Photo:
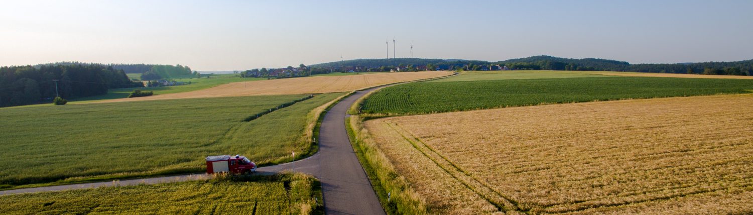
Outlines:
[[[128,74],[128,75],[129,77],[131,77],[131,74]],[[141,75],[141,74],[137,74],[137,75]],[[210,77],[211,78],[206,78],[204,75],[202,75],[202,78],[174,79],[175,81],[183,81],[183,82],[191,81],[191,84],[180,85],[180,86],[155,87],[155,88],[110,89],[108,93],[105,95],[96,96],[96,97],[83,97],[83,98],[78,98],[78,99],[72,99],[70,101],[71,103],[90,103],[96,100],[122,99],[122,98],[127,98],[128,94],[130,94],[131,92],[133,92],[133,90],[136,90],[136,89],[139,89],[142,91],[154,91],[155,95],[175,94],[175,93],[182,93],[182,92],[188,92],[188,91],[203,90],[206,88],[212,88],[212,87],[218,86],[220,84],[228,84],[228,83],[233,83],[233,82],[267,80],[267,78],[240,78],[236,76],[236,74],[210,75]]]

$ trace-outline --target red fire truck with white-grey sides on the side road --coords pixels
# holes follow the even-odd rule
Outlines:
[[[206,174],[228,172],[230,174],[251,174],[256,164],[241,155],[215,155],[206,157]]]

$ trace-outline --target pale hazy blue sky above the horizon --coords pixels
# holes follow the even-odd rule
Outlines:
[[[398,57],[753,59],[753,1],[3,1],[0,66],[202,71]]]

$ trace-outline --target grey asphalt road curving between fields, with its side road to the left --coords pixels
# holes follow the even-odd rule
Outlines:
[[[385,214],[377,199],[361,163],[355,156],[345,128],[346,112],[355,100],[363,97],[370,88],[358,91],[337,103],[325,114],[319,131],[319,152],[309,158],[286,164],[259,167],[255,174],[275,174],[293,170],[311,174],[322,181],[325,212],[328,214]],[[101,183],[81,183],[63,186],[46,186],[29,189],[13,189],[0,192],[2,195],[48,192],[66,189],[87,189],[100,186],[130,186],[137,184],[170,183],[187,180],[203,180],[206,174],[154,177],[136,180],[117,180]]]

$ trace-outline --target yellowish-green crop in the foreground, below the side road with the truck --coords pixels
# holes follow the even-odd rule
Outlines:
[[[0,196],[2,214],[301,214],[322,197],[312,177],[283,174]]]

